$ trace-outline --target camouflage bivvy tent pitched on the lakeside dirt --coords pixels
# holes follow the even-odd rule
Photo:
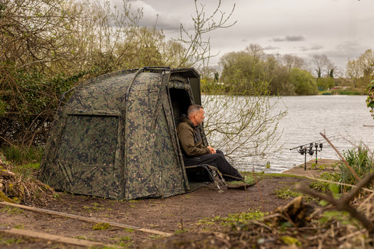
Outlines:
[[[189,105],[201,103],[194,68],[122,70],[68,92],[45,146],[45,183],[111,199],[189,191],[175,127]]]

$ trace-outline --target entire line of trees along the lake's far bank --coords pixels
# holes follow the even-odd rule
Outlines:
[[[222,74],[215,73],[204,81],[203,91],[220,88],[241,95],[254,93],[313,95],[334,86],[348,86],[364,93],[374,69],[374,52],[366,50],[357,60],[348,61],[347,77],[334,75],[336,66],[325,54],[305,61],[294,55],[266,54],[262,47],[251,44],[240,52],[229,52],[220,58]],[[354,73],[352,73],[354,72]],[[217,83],[219,84],[217,86]]]

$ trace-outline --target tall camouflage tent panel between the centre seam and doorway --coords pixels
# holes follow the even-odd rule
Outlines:
[[[130,94],[126,199],[185,193],[182,169],[173,150],[162,108],[167,96],[166,83],[161,86],[161,80],[160,74],[141,74]],[[143,84],[150,84],[150,87]]]

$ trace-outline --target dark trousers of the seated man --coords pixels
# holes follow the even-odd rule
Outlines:
[[[226,181],[238,181],[243,179],[243,176],[238,172],[238,170],[227,162],[226,158],[224,158],[224,153],[220,150],[216,150],[215,154],[201,155],[197,156],[196,158],[183,158],[183,160],[185,162],[185,166],[203,164],[213,165],[220,170]]]

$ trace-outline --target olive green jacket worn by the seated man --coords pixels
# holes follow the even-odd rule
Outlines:
[[[177,133],[183,156],[193,158],[210,153],[210,150],[203,145],[199,126],[195,127],[187,117],[182,117],[181,121],[177,126]]]

